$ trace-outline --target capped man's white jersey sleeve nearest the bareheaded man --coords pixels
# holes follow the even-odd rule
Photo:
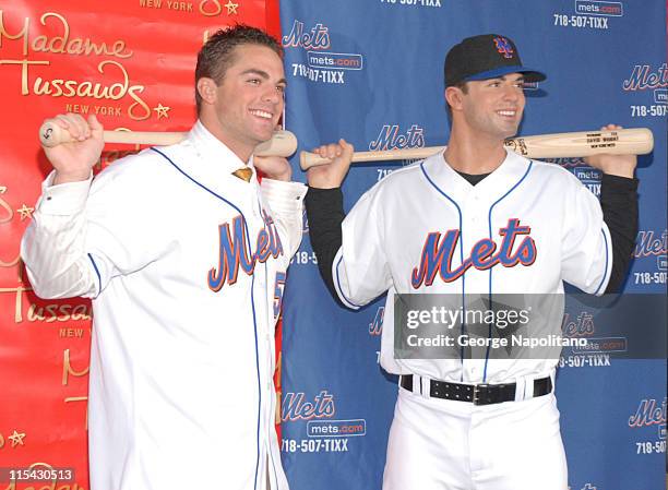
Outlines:
[[[342,246],[332,264],[341,301],[358,309],[385,292],[392,276],[385,254],[382,192],[363,194],[342,224]]]

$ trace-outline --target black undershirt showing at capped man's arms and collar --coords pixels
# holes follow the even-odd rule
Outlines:
[[[462,174],[472,184],[485,176]],[[327,289],[341,304],[332,264],[342,244],[341,224],[345,218],[341,188],[309,188],[305,199],[311,246],[318,258],[318,268]],[[624,283],[637,236],[637,179],[604,174],[600,186],[600,207],[612,240],[612,272],[606,292],[617,292]]]

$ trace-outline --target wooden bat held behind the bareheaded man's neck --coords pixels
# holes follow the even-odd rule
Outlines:
[[[104,131],[105,143],[141,144],[166,146],[179,143],[188,135],[184,132],[151,131]],[[45,147],[57,146],[71,141],[70,133],[52,121],[39,128],[39,141]],[[271,140],[255,147],[258,156],[290,156],[297,150],[297,139],[289,131],[276,131]]]

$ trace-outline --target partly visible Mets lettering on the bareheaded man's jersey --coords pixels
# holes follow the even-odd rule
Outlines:
[[[264,263],[270,256],[276,259],[283,255],[283,244],[274,220],[264,212],[262,212],[262,218],[265,226],[258,232],[254,252],[250,250],[246,238],[243,216],[239,215],[232,219],[231,235],[229,223],[218,226],[220,240],[218,266],[212,267],[206,275],[208,288],[212,291],[219,291],[225,284],[235,284],[239,267],[250,276],[258,262]]]

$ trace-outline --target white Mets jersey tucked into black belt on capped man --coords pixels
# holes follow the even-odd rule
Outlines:
[[[396,170],[360,198],[342,231],[332,272],[344,304],[389,291],[382,367],[451,382],[545,377],[557,360],[395,359],[395,294],[560,294],[562,280],[603,294],[612,265],[596,198],[568,170],[512,152],[477,186],[442,154]]]

